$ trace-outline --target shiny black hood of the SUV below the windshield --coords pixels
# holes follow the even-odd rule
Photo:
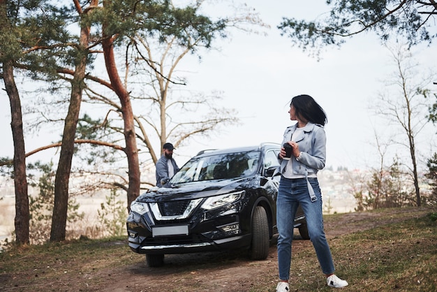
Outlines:
[[[186,200],[205,198],[228,194],[232,191],[242,189],[251,184],[253,177],[244,177],[230,180],[212,180],[201,182],[188,182],[172,185],[170,187],[155,188],[147,191],[137,198],[140,202],[159,202],[166,200]]]

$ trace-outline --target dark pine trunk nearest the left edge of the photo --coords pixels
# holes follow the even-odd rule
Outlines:
[[[14,140],[14,185],[15,185],[15,238],[18,244],[29,243],[29,196],[27,194],[26,152],[20,95],[13,75],[12,61],[3,62],[3,81],[10,101],[12,135]]]

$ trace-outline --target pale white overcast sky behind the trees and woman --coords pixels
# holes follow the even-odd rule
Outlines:
[[[179,166],[202,149],[281,143],[283,131],[294,123],[288,114],[290,99],[298,94],[313,96],[327,112],[327,166],[348,169],[375,166],[378,155],[373,131],[385,124],[372,115],[369,105],[384,91],[383,81],[394,71],[390,52],[376,35],[360,34],[348,39],[341,48],[327,48],[320,60],[314,59],[292,47],[290,39],[281,36],[276,26],[284,16],[306,20],[320,17],[320,13],[329,11],[325,1],[249,3],[271,26],[265,30],[267,36],[232,31],[230,38],[216,43],[219,50],[202,52],[201,62],[194,57],[186,58],[179,68],[191,72],[187,89],[223,92],[224,105],[237,110],[241,123],[175,149]],[[224,9],[214,6],[216,13],[226,13]],[[433,48],[426,45],[415,48],[417,61],[437,68]],[[436,151],[432,142],[437,140],[435,132],[431,130],[421,141],[424,152]],[[0,92],[0,134],[3,137],[0,156],[13,156],[10,106],[4,90]],[[60,134],[56,135],[43,130],[27,134],[27,151],[57,140]],[[434,150],[429,149],[432,147]],[[46,153],[41,155],[53,155]]]

